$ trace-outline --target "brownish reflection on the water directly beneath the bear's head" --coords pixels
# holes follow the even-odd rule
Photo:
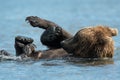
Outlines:
[[[77,66],[100,66],[100,65],[108,65],[108,64],[114,64],[113,59],[85,59],[85,58],[69,58],[66,60],[67,62],[77,65]]]

